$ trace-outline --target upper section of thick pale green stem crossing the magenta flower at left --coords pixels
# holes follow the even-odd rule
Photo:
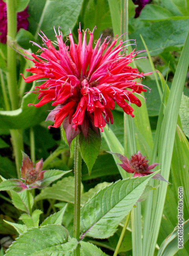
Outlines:
[[[19,94],[17,90],[16,51],[14,46],[17,33],[16,0],[7,0],[7,86],[11,100],[11,109],[19,108]]]

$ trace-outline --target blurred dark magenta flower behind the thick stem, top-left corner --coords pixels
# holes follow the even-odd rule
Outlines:
[[[17,13],[17,31],[20,28],[28,29],[28,18],[27,8],[24,11]],[[6,43],[7,41],[7,6],[3,0],[0,0],[0,41]]]

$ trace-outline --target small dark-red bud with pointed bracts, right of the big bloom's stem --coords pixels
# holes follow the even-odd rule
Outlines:
[[[151,171],[159,164],[151,164],[148,165],[148,159],[146,159],[146,156],[143,156],[140,151],[137,152],[137,154],[133,154],[128,160],[126,156],[122,156],[118,153],[109,152],[111,154],[115,154],[119,160],[121,160],[122,164],[119,164],[126,172],[128,173],[134,173],[133,177],[142,177],[149,175],[153,173],[154,171]],[[160,181],[166,181],[161,174],[157,173],[152,177],[152,179],[158,179]],[[167,181],[166,181],[167,182]]]

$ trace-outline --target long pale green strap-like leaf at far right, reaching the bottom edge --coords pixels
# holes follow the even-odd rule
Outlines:
[[[155,145],[159,143],[157,162],[161,163],[161,174],[165,179],[169,179],[170,164],[174,146],[174,136],[176,132],[176,122],[178,119],[179,107],[182,98],[182,91],[185,84],[189,64],[189,33],[176,68],[176,73],[172,81],[172,86],[167,100],[167,105],[164,111],[163,122],[161,124],[160,135],[156,138]],[[163,109],[160,112],[163,115]],[[155,152],[156,153],[156,152]],[[155,183],[156,184],[156,183]],[[145,226],[143,233],[143,248],[144,255],[154,255],[156,241],[161,224],[161,216],[163,213],[163,205],[167,184],[162,183],[158,189],[156,196],[150,195],[146,200],[145,211]],[[153,209],[149,211],[149,209]]]

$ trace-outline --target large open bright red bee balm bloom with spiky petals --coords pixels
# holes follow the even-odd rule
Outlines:
[[[118,38],[109,47],[107,39],[100,45],[99,38],[93,49],[93,32],[89,32],[88,45],[86,36],[87,30],[82,40],[81,29],[78,30],[78,44],[75,44],[70,32],[70,46],[67,46],[59,31],[56,34],[59,48],[56,50],[43,34],[41,38],[46,47],[37,45],[41,55],[25,52],[33,57],[35,67],[26,70],[34,75],[24,78],[24,81],[30,83],[47,78],[42,85],[35,87],[40,102],[29,105],[41,107],[53,102],[55,109],[46,120],[54,121],[52,127],[56,128],[64,121],[63,127],[69,143],[80,131],[86,137],[89,127],[96,132],[100,128],[102,132],[109,120],[113,124],[111,110],[115,108],[115,102],[125,113],[134,117],[130,104],[140,107],[141,102],[135,94],[146,92],[143,85],[135,80],[141,79],[144,74],[128,66],[138,52],[132,51],[126,55],[122,40],[114,47]]]

